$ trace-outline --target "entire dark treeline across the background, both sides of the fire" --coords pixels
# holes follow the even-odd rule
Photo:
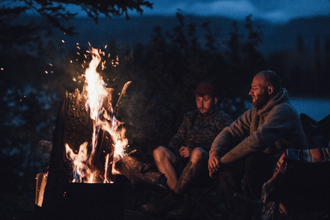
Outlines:
[[[21,27],[10,28],[14,33]],[[200,31],[203,39],[197,37]],[[297,36],[297,50],[266,57],[259,51],[262,30],[252,16],[246,17],[243,28],[232,23],[228,40],[220,41],[218,35],[209,22],[201,26],[186,23],[177,13],[175,28],[164,32],[155,26],[146,45],[104,42],[109,59],[117,61],[118,56],[118,65],[100,71],[107,86],[120,92],[124,83],[132,81],[118,120],[127,129],[129,150],[137,148],[142,159],[149,159],[155,146],[166,145],[184,113],[195,109],[193,92],[201,80],[217,85],[219,105],[233,118],[246,110],[252,77],[263,69],[278,72],[289,94],[329,94],[330,36],[325,47],[316,36],[312,51],[304,48],[303,36]],[[33,196],[36,173],[43,172],[49,162],[50,148],[39,141],[52,142],[65,91],[82,89],[80,75],[88,61],[84,54],[88,48],[79,46],[79,54],[64,52],[61,45],[52,43],[52,31],[45,26],[30,27],[25,36],[1,35],[0,188]]]

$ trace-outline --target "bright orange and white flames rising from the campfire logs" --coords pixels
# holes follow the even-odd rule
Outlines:
[[[110,112],[106,111],[102,107],[104,99],[109,94],[105,88],[106,84],[102,80],[100,74],[97,72],[97,67],[101,62],[100,52],[97,49],[91,47],[89,53],[91,54],[92,59],[89,63],[89,67],[86,69],[84,76],[85,90],[87,91],[87,95],[85,97],[85,107],[86,110],[90,112],[90,118],[93,122],[91,143],[89,144],[88,142],[85,142],[82,144],[78,153],[74,153],[68,144],[65,144],[65,148],[67,151],[67,158],[69,158],[72,162],[74,169],[74,177],[72,181],[96,183],[98,182],[97,179],[99,179],[97,177],[100,175],[100,170],[93,166],[92,161],[94,160],[94,155],[98,155],[96,153],[96,148],[98,147],[98,135],[100,133],[100,129],[109,133],[114,148],[113,162],[109,161],[110,155],[107,154],[105,157],[104,175],[100,178],[103,179],[103,183],[109,183],[111,182],[111,179],[107,177],[109,165],[114,165],[115,160],[124,156],[124,149],[128,144],[128,140],[125,137],[125,129],[122,127],[122,122],[116,120],[115,115],[113,115],[111,105],[109,106],[108,110]],[[118,58],[116,60],[118,61]],[[104,64],[105,62],[102,63],[102,69],[104,68]],[[91,147],[90,150],[89,147]],[[112,173],[116,173],[114,166],[112,167]]]

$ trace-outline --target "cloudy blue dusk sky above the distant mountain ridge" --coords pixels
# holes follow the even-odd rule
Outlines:
[[[330,16],[330,0],[149,0],[153,9],[143,8],[144,15],[184,14],[245,19],[254,18],[287,22],[299,17]],[[133,14],[133,13],[130,13]]]

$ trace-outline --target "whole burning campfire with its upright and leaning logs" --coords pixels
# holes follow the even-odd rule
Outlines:
[[[115,181],[117,175],[129,179],[131,186],[166,183],[162,173],[150,170],[147,164],[131,156],[134,151],[126,153],[129,140],[124,123],[116,119],[116,114],[131,81],[116,96],[115,89],[106,87],[97,72],[104,65],[102,52],[91,47],[89,54],[91,61],[83,75],[83,91],[65,93],[58,109],[49,170],[47,175],[37,177],[36,204],[53,213],[68,215],[68,207],[86,212],[86,204],[89,210],[91,204],[98,210],[117,207],[111,199],[107,199],[111,203],[100,203],[100,197],[107,193],[112,194],[109,197],[122,193],[118,190],[122,186]],[[78,203],[82,200],[83,204]]]

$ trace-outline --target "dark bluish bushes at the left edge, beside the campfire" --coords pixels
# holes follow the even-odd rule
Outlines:
[[[47,168],[47,155],[38,148],[40,140],[52,139],[57,97],[45,85],[45,73],[21,69],[21,65],[40,65],[39,59],[17,56],[12,60],[1,56],[1,61],[5,65],[1,63],[0,160],[5,178],[0,186],[7,193],[23,194],[35,187],[30,180],[36,172]],[[5,77],[7,74],[13,76]],[[45,80],[40,83],[42,79]]]

